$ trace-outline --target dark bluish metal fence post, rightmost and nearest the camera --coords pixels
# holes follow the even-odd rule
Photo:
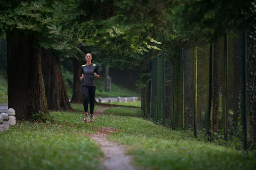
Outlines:
[[[246,121],[246,57],[247,57],[247,39],[246,30],[243,31],[242,36],[242,121],[243,121],[243,145],[244,150],[247,150],[247,121]]]

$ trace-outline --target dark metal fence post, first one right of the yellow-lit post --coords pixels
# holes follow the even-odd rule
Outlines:
[[[209,70],[209,129],[208,135],[212,141],[212,63],[213,63],[213,42],[210,46],[210,70]]]

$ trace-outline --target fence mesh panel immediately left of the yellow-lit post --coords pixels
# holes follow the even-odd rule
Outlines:
[[[184,126],[186,130],[194,128],[194,46],[184,49]]]

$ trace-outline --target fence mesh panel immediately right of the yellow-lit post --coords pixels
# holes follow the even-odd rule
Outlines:
[[[210,44],[196,45],[198,129],[209,129]]]

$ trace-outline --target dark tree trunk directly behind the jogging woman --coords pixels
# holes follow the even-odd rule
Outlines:
[[[82,76],[81,66],[85,64],[85,61],[79,61],[73,58],[73,95],[70,102],[82,103],[83,93],[82,93],[82,82],[80,77]]]

